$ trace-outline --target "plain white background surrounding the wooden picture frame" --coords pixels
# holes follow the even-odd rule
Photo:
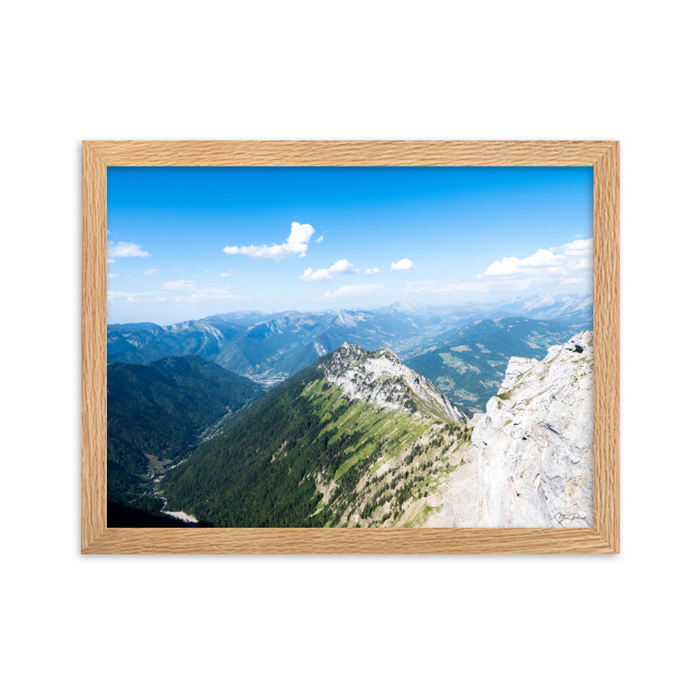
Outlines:
[[[696,17],[649,7],[4,8],[7,696],[696,686]],[[621,140],[621,555],[81,557],[83,138]]]

